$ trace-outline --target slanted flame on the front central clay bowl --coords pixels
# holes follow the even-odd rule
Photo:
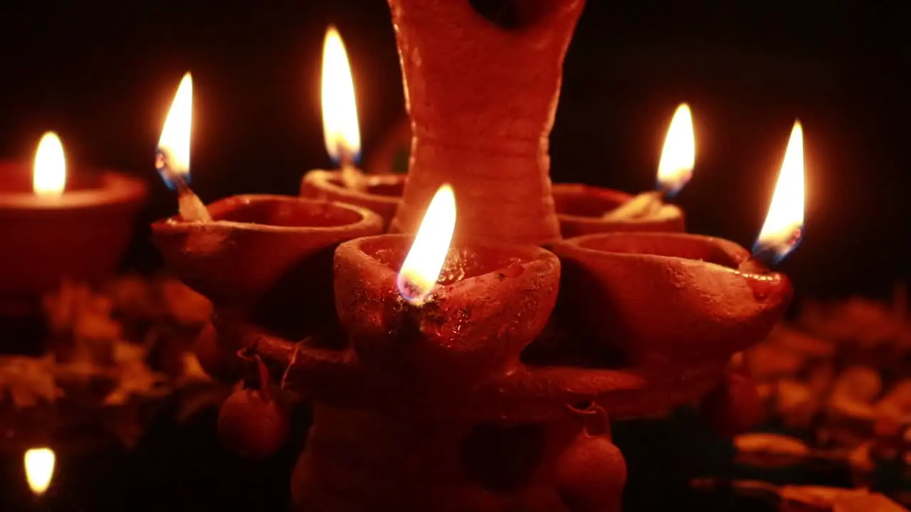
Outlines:
[[[424,303],[443,270],[455,230],[455,194],[449,185],[436,190],[415,241],[398,274],[399,293],[415,305]]]

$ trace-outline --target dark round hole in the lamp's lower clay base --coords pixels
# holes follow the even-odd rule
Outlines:
[[[492,492],[525,486],[544,453],[545,425],[477,425],[462,442],[467,476]]]

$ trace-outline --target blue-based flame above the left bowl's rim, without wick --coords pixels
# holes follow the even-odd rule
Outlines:
[[[189,141],[193,126],[193,77],[189,72],[180,80],[174,101],[161,129],[155,169],[171,189],[177,179],[189,183]]]

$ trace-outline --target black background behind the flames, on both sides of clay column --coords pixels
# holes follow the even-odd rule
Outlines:
[[[382,0],[5,2],[0,16],[0,155],[30,159],[55,129],[74,166],[148,176],[144,221],[174,210],[151,155],[188,69],[194,188],[207,201],[293,194],[306,169],[330,165],[319,104],[330,23],[348,46],[366,152],[404,111]],[[678,201],[692,231],[749,247],[801,118],[806,238],[783,270],[805,294],[885,293],[908,276],[908,21],[897,4],[589,2],[552,176],[649,189],[673,109],[689,101],[698,163]]]

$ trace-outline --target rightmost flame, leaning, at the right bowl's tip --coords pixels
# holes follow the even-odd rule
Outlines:
[[[765,216],[753,252],[768,252],[781,261],[793,251],[804,235],[804,128],[794,122],[788,148],[784,151],[772,204]]]

